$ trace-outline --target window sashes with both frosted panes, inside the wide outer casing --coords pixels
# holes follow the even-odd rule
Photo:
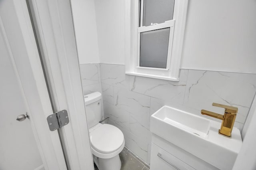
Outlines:
[[[138,67],[169,69],[174,0],[141,0]]]

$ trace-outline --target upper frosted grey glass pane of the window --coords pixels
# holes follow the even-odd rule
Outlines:
[[[143,26],[172,20],[174,0],[144,0]]]

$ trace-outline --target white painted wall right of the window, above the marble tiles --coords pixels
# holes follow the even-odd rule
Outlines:
[[[255,0],[190,0],[181,68],[256,73],[255,9]]]

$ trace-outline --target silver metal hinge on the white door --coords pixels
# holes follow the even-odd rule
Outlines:
[[[47,117],[47,122],[51,131],[68,125],[68,112],[66,110],[56,112]]]

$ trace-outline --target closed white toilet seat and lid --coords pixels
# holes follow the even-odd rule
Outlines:
[[[124,148],[124,134],[113,125],[98,123],[89,132],[92,153],[99,158],[112,158]]]

